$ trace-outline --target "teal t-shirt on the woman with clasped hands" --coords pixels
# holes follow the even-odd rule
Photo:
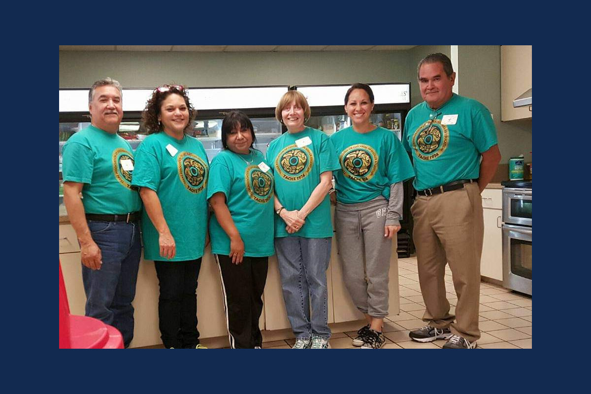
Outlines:
[[[322,131],[306,127],[298,133],[283,133],[271,141],[267,160],[275,175],[275,193],[288,211],[299,210],[320,183],[320,174],[340,168],[335,148]],[[285,231],[285,222],[275,215],[275,237],[326,238],[333,236],[330,222],[330,198],[306,217],[306,224],[293,234]]]

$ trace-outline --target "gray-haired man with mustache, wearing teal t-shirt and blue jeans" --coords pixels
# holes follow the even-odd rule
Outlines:
[[[64,204],[80,243],[86,316],[134,337],[135,284],[141,244],[141,200],[132,190],[131,145],[117,134],[123,118],[121,84],[100,79],[88,95],[90,126],[63,146]]]

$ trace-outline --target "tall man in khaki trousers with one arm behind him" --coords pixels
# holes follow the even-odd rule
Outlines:
[[[501,153],[489,110],[452,92],[456,73],[449,57],[428,55],[418,63],[417,74],[424,102],[408,112],[402,143],[413,156],[416,174],[418,196],[411,212],[427,325],[409,336],[419,342],[448,339],[444,349],[474,349],[480,338],[480,193]],[[446,297],[446,263],[457,294],[455,315]]]

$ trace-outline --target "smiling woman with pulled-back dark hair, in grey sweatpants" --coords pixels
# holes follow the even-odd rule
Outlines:
[[[372,110],[371,87],[353,84],[345,95],[352,125],[330,137],[341,166],[335,171],[335,230],[343,280],[368,323],[353,339],[353,346],[362,349],[379,349],[385,342],[382,327],[388,315],[392,238],[402,217],[402,181],[414,177],[401,142],[372,124]]]

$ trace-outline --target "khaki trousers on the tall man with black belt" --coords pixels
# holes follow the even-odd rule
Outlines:
[[[449,327],[453,334],[470,342],[478,340],[480,255],[484,236],[478,184],[466,184],[461,189],[434,196],[417,196],[411,212],[418,279],[426,305],[423,320],[436,328]],[[446,262],[457,294],[455,315],[450,314],[446,297]]]

